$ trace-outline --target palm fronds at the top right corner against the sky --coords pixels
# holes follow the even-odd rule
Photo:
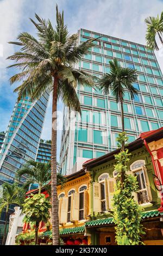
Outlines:
[[[161,16],[157,17],[147,17],[145,19],[147,25],[146,32],[146,42],[147,47],[151,50],[159,50],[158,44],[156,42],[156,35],[158,34],[161,44],[163,45],[162,32],[163,32],[163,11]]]

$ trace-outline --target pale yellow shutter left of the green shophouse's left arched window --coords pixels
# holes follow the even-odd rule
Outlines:
[[[98,182],[93,182],[93,211],[101,212],[101,186]]]

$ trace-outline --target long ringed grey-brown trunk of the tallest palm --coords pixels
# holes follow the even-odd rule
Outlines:
[[[52,105],[52,153],[51,153],[51,190],[52,190],[52,239],[53,245],[59,245],[59,219],[57,196],[57,94],[58,76],[54,75]]]

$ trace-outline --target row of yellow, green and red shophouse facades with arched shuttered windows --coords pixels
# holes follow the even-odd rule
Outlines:
[[[139,182],[134,197],[143,209],[146,235],[142,241],[163,245],[163,211],[153,180],[156,175],[163,181],[163,128],[142,133],[127,148],[131,153],[128,172]],[[58,186],[60,235],[66,245],[116,245],[111,215],[116,153],[118,150],[85,162],[82,170],[67,176],[64,187]],[[43,231],[40,241],[46,243],[49,236],[51,231]]]

